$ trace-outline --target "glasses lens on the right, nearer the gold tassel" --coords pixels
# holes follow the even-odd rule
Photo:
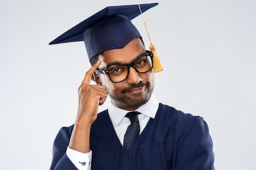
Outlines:
[[[142,58],[139,58],[139,60],[134,62],[134,67],[140,73],[149,72],[149,70],[152,68],[151,57],[146,55]]]

